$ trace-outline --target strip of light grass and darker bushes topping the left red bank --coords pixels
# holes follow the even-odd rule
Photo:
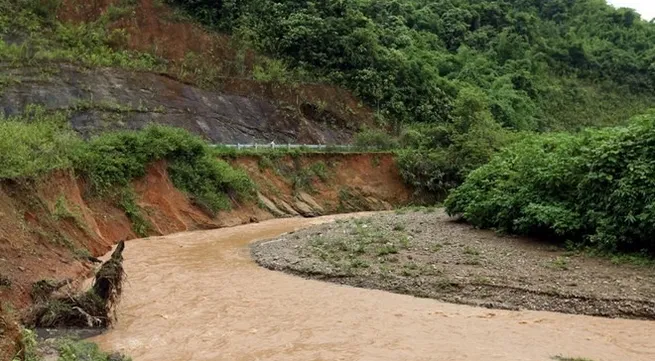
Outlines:
[[[147,226],[128,187],[154,161],[167,160],[175,186],[211,213],[229,209],[230,199],[247,198],[254,191],[245,172],[217,159],[204,140],[185,130],[153,125],[83,141],[68,118],[67,112],[40,107],[0,116],[0,179],[74,169],[93,192],[116,195],[117,204],[141,234]]]

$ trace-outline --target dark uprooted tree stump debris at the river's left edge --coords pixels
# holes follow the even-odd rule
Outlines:
[[[66,281],[39,281],[34,284],[32,297],[36,302],[31,322],[36,327],[108,327],[115,319],[113,307],[120,299],[125,272],[123,250],[125,242],[120,241],[111,258],[95,275],[93,287],[77,295],[53,293]]]

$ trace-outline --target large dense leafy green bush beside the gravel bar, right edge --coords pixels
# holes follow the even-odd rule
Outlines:
[[[528,137],[473,171],[446,207],[478,227],[655,253],[655,113]]]

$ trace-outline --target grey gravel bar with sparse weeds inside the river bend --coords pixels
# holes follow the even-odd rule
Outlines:
[[[500,309],[655,319],[655,267],[499,236],[441,210],[337,221],[252,246],[272,270]]]

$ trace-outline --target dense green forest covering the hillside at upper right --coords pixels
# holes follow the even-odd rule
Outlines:
[[[655,25],[602,0],[170,2],[397,122],[450,122],[468,88],[520,130],[612,123],[652,103]]]

